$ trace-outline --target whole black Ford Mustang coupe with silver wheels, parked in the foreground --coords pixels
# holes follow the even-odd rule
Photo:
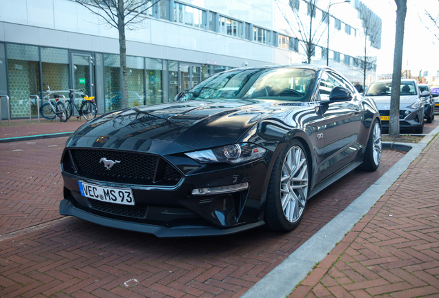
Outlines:
[[[289,231],[307,200],[381,158],[380,117],[331,68],[221,72],[173,103],[81,126],[61,157],[61,215],[158,237]]]

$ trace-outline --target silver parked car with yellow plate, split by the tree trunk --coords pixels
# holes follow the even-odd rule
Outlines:
[[[391,80],[371,83],[366,96],[371,97],[378,106],[382,129],[389,129]],[[400,129],[424,130],[425,101],[420,97],[418,86],[413,79],[402,79],[400,86]]]

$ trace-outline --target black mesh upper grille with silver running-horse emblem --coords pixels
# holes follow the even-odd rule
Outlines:
[[[106,163],[110,166],[108,169]],[[182,179],[180,172],[166,160],[145,153],[70,149],[64,155],[63,165],[70,174],[99,181],[174,186]]]

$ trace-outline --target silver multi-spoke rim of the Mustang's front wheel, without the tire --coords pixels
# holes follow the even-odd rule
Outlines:
[[[300,219],[308,197],[308,163],[299,146],[286,154],[280,179],[282,210],[290,223]]]

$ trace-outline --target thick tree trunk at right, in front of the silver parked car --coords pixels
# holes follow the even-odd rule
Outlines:
[[[402,69],[402,48],[404,44],[404,22],[407,0],[396,2],[395,51],[393,52],[392,91],[390,99],[389,137],[400,137],[400,86]]]

